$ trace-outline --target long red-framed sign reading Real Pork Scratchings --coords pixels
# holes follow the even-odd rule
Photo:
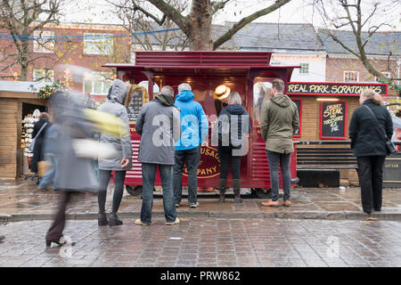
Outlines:
[[[382,83],[289,82],[287,94],[359,96],[366,89],[372,89],[382,96],[387,96],[389,85]]]

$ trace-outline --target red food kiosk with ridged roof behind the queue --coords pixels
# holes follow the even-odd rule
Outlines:
[[[135,132],[135,119],[143,103],[153,99],[153,87],[172,86],[177,94],[177,86],[183,82],[192,86],[193,100],[200,102],[208,116],[217,116],[214,91],[218,85],[227,85],[232,91],[241,94],[242,104],[250,113],[251,132],[249,151],[241,160],[241,188],[254,191],[258,197],[265,197],[270,188],[270,173],[266,159],[265,142],[260,134],[258,121],[254,118],[255,109],[260,108],[259,100],[254,102],[254,85],[258,82],[271,82],[282,78],[284,83],[291,79],[294,68],[299,66],[271,66],[271,52],[135,52],[135,64],[106,64],[104,67],[116,68],[117,77],[138,85],[147,81],[149,94],[144,88],[138,89],[129,108],[131,142],[133,148],[133,168],[127,171],[125,185],[127,191],[139,194],[142,191],[142,167],[138,162],[138,149],[141,136]],[[285,94],[286,90],[284,91]],[[210,117],[209,117],[210,118]],[[210,119],[209,119],[210,121]],[[217,147],[210,144],[201,148],[201,164],[198,169],[198,191],[218,187],[220,174]],[[295,144],[294,144],[295,148]],[[297,181],[296,151],[291,156],[292,183]],[[227,178],[231,187],[231,174]],[[280,178],[282,177],[280,173]],[[281,180],[281,179],[280,179]],[[282,187],[282,180],[281,180]],[[160,185],[160,175],[155,185]],[[187,186],[184,170],[183,186]]]

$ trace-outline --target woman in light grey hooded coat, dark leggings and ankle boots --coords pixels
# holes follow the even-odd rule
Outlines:
[[[105,142],[112,146],[117,155],[113,158],[102,158],[99,155],[99,169],[100,169],[100,187],[98,192],[99,203],[99,216],[98,224],[110,226],[120,225],[122,221],[117,216],[119,204],[121,203],[124,191],[124,179],[126,178],[126,171],[132,167],[132,146],[131,135],[129,134],[129,121],[127,107],[132,101],[132,92],[134,90],[131,85],[127,85],[123,81],[116,79],[113,81],[107,101],[99,108],[100,111],[110,113],[121,119],[126,125],[126,134],[120,135],[119,138],[109,136],[107,134],[101,135],[101,142]],[[115,171],[114,178],[114,194],[112,210],[109,216],[109,221],[105,213],[107,186],[110,182],[111,171]]]

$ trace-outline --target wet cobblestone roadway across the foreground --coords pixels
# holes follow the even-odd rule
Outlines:
[[[0,225],[0,266],[400,266],[401,223],[183,219],[119,227],[69,221],[74,247],[45,248],[50,221]]]

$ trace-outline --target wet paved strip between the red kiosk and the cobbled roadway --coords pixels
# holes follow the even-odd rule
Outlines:
[[[106,209],[111,208],[113,185],[110,183]],[[241,192],[249,192],[243,189]],[[231,194],[230,194],[231,192]],[[224,204],[218,203],[217,193],[199,193],[199,208],[189,208],[184,197],[180,208],[180,217],[221,217],[221,218],[314,218],[314,219],[352,219],[361,220],[364,213],[361,208],[359,188],[294,188],[291,191],[291,208],[266,208],[260,205],[265,199],[243,196],[243,203],[233,203],[233,191],[228,192]],[[30,180],[0,182],[0,221],[24,221],[51,219],[57,207],[57,191],[39,191]],[[163,205],[160,191],[154,199],[153,213],[162,217]],[[282,200],[281,200],[282,202]],[[119,208],[119,215],[124,218],[139,217],[142,199],[131,196],[125,191]],[[93,193],[79,194],[68,208],[69,219],[97,218],[97,197]],[[381,212],[374,212],[382,220],[401,221],[401,189],[383,190]]]

